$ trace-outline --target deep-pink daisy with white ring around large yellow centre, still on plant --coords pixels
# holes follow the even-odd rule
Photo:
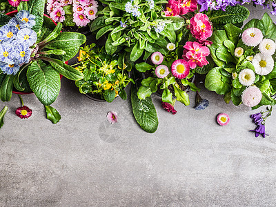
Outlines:
[[[190,67],[184,59],[177,59],[172,63],[172,75],[178,79],[186,78],[190,73]]]

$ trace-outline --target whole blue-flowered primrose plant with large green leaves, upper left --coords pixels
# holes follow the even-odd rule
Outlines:
[[[44,0],[21,1],[16,17],[0,15],[2,101],[10,101],[14,89],[34,92],[48,106],[59,95],[60,75],[75,81],[83,79],[81,72],[64,62],[77,54],[86,37],[61,32],[61,23],[56,26],[43,16],[44,5]]]

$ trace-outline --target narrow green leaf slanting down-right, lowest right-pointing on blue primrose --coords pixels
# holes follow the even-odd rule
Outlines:
[[[60,61],[59,59],[48,59],[48,61],[51,66],[64,77],[72,81],[83,79],[83,74],[79,72],[79,70],[73,68],[72,66],[66,65],[63,61]]]

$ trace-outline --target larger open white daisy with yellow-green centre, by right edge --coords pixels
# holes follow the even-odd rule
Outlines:
[[[252,63],[257,75],[268,75],[274,68],[273,57],[262,53],[255,55]]]

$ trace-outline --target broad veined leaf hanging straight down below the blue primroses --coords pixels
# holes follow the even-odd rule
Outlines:
[[[41,60],[34,61],[28,67],[27,78],[30,88],[45,106],[52,104],[59,95],[61,81],[59,72]]]

